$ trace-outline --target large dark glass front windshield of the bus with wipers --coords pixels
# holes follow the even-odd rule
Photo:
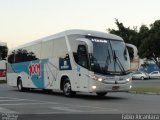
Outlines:
[[[89,38],[93,43],[90,55],[91,70],[104,75],[127,74],[130,69],[129,54],[120,40]]]

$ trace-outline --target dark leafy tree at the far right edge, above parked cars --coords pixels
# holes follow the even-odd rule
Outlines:
[[[150,27],[141,45],[140,53],[142,57],[153,59],[160,68],[160,20],[156,20]]]

